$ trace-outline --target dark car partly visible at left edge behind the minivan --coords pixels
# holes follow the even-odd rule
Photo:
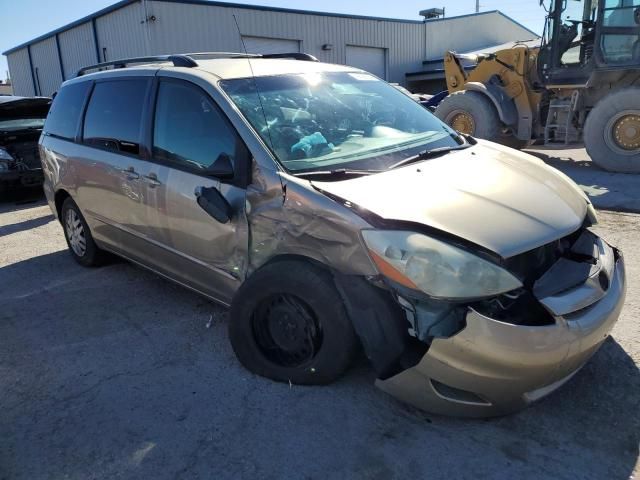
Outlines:
[[[46,97],[0,97],[0,193],[42,184],[38,139],[50,106]]]

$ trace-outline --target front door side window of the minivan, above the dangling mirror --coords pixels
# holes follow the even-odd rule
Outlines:
[[[204,91],[182,82],[160,82],[153,130],[156,159],[198,171],[227,155],[235,165],[236,145],[235,130]]]

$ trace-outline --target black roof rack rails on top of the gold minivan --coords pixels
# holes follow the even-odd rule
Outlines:
[[[76,76],[81,77],[90,70],[99,70],[102,68],[126,68],[128,65],[134,63],[164,63],[172,62],[174,67],[197,67],[198,64],[193,57],[209,57],[209,58],[289,58],[292,60],[300,60],[305,62],[318,62],[319,60],[308,53],[235,53],[235,52],[197,52],[197,53],[184,53],[180,55],[155,55],[152,57],[135,57],[135,58],[123,58],[120,60],[113,60],[111,62],[96,63],[95,65],[89,65],[82,67],[78,70]]]

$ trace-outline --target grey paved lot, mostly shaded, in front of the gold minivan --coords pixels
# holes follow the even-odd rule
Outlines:
[[[128,263],[83,269],[41,199],[1,203],[0,479],[633,476],[640,216],[600,220],[628,266],[613,337],[540,403],[470,421],[387,397],[364,360],[329,387],[255,377],[224,309]]]

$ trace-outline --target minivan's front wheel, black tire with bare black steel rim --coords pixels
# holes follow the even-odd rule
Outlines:
[[[255,272],[235,295],[230,316],[229,338],[240,363],[279,382],[331,383],[358,351],[332,276],[303,261]]]

